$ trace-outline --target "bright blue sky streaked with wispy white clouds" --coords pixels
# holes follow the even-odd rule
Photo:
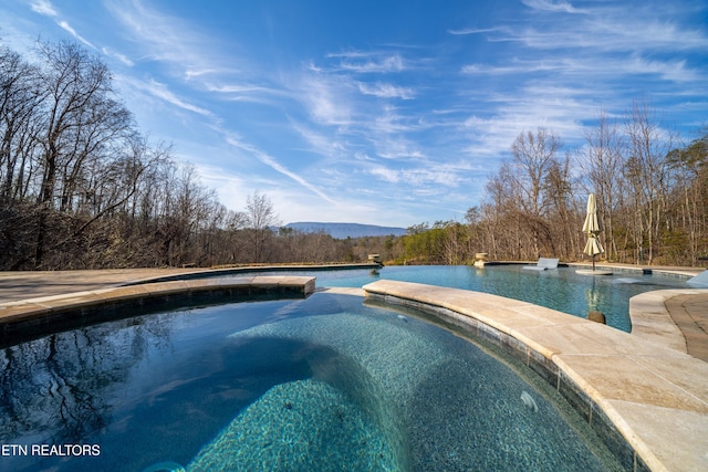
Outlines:
[[[282,223],[464,221],[520,133],[565,149],[648,98],[708,123],[708,3],[3,0],[0,41],[98,55],[140,129],[232,210]]]

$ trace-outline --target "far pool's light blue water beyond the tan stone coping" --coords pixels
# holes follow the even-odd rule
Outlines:
[[[690,287],[685,279],[671,275],[644,275],[636,271],[616,270],[614,275],[587,276],[576,274],[574,268],[525,271],[521,265],[483,269],[468,265],[394,265],[378,271],[341,270],[302,274],[315,275],[317,286],[322,287],[361,287],[386,279],[491,293],[581,317],[587,317],[590,311],[598,311],[605,315],[608,326],[625,332],[632,331],[631,297],[653,290]]]

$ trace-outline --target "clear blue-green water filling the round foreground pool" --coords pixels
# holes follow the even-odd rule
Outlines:
[[[315,293],[6,348],[0,442],[100,455],[15,454],[0,469],[617,469],[543,381],[414,315]]]

